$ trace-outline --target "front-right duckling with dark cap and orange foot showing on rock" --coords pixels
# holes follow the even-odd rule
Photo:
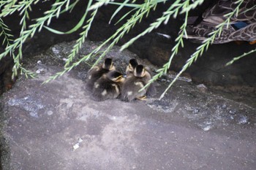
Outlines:
[[[121,88],[121,99],[124,101],[132,101],[135,98],[139,100],[146,99],[146,93],[148,88],[143,88],[148,81],[151,80],[151,74],[145,69],[143,65],[138,65],[133,72],[133,75],[127,77],[124,81],[124,85]]]

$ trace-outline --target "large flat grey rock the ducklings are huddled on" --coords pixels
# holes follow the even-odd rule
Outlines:
[[[86,63],[42,85],[61,70],[72,45],[28,58],[24,64],[38,77],[20,77],[1,96],[3,169],[256,168],[255,98],[238,102],[184,78],[159,101],[172,80],[167,75],[148,101],[97,102],[84,88]],[[86,42],[78,58],[97,45]],[[114,47],[108,57],[124,72],[137,56]]]

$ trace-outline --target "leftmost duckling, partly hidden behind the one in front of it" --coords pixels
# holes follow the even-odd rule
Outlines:
[[[94,66],[89,71],[89,74],[86,79],[86,88],[92,90],[94,88],[94,82],[96,82],[103,74],[108,73],[110,70],[115,70],[113,66],[113,61],[111,58],[105,58],[104,63],[101,66]]]

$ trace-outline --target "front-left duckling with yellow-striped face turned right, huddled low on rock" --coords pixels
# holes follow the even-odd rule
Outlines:
[[[123,74],[116,70],[104,74],[94,83],[92,91],[93,98],[97,101],[105,101],[110,98],[117,98],[121,92],[121,85],[124,82]]]

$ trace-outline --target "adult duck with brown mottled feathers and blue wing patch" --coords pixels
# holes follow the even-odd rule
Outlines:
[[[238,0],[219,0],[213,7],[206,9],[200,17],[189,17],[187,39],[202,43],[219,23],[227,19],[227,13],[233,12],[239,3]],[[230,18],[229,26],[222,28],[220,36],[216,36],[214,44],[232,41],[247,41],[256,43],[256,1],[244,0],[239,7],[238,15]]]

